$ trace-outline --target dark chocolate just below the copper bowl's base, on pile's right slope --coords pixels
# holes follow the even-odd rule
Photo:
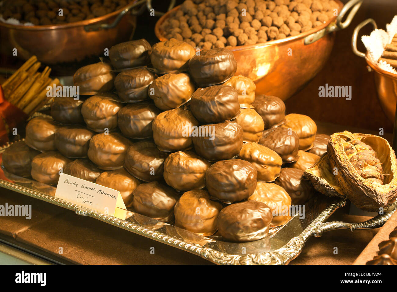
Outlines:
[[[255,101],[252,102],[252,106],[262,117],[265,129],[280,124],[285,118],[285,104],[278,97],[258,95],[255,97]]]

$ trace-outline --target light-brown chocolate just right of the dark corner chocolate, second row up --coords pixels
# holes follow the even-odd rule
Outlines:
[[[240,150],[239,159],[251,162],[258,172],[258,180],[273,182],[280,175],[281,157],[266,146],[255,142],[245,143]]]

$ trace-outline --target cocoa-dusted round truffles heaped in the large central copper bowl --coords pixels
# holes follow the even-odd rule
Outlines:
[[[338,15],[334,0],[186,0],[162,35],[210,49],[284,39]]]

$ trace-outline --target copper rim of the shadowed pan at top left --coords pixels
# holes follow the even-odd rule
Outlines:
[[[4,22],[0,21],[0,26],[6,27],[9,29],[19,29],[19,30],[27,30],[27,31],[43,31],[43,30],[51,30],[51,29],[64,29],[64,28],[85,26],[88,24],[93,24],[96,22],[101,22],[101,21],[110,19],[110,18],[120,14],[125,8],[127,8],[127,6],[129,6],[130,3],[136,2],[136,1],[137,0],[130,1],[128,4],[126,4],[119,10],[116,10],[109,14],[105,14],[105,15],[91,18],[91,19],[61,24],[61,25],[14,25],[14,24],[4,23]],[[336,1],[338,1],[338,0],[336,0]]]

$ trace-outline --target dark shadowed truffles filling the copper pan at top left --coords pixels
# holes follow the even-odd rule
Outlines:
[[[3,0],[0,16],[9,21],[15,19],[19,24],[64,24],[109,14],[128,3],[128,0]]]

